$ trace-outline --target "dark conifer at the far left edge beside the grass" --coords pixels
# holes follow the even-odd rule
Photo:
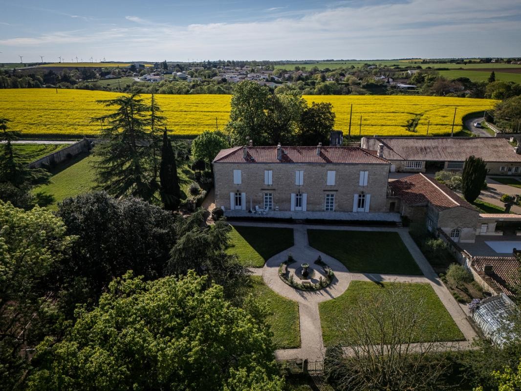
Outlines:
[[[42,168],[29,168],[24,156],[13,148],[20,132],[9,130],[9,119],[0,118],[0,200],[30,209],[35,204],[34,186],[48,183],[50,174]]]

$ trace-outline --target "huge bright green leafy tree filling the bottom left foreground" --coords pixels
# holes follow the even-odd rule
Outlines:
[[[264,322],[205,279],[114,280],[63,341],[39,347],[29,389],[281,390]]]

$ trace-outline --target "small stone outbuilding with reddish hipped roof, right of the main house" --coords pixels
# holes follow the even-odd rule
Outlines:
[[[388,203],[412,222],[425,222],[433,233],[441,228],[455,242],[475,241],[479,211],[424,174],[389,182]]]

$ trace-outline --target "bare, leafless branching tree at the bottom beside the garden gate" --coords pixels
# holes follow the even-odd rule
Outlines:
[[[443,388],[447,356],[457,343],[432,330],[432,316],[402,284],[386,284],[358,301],[336,324],[342,344],[326,352],[324,369],[339,390]],[[430,325],[429,325],[430,323]]]

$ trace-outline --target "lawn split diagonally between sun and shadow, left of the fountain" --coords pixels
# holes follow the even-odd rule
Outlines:
[[[293,229],[232,226],[229,254],[244,266],[263,267],[275,254],[293,246]]]

